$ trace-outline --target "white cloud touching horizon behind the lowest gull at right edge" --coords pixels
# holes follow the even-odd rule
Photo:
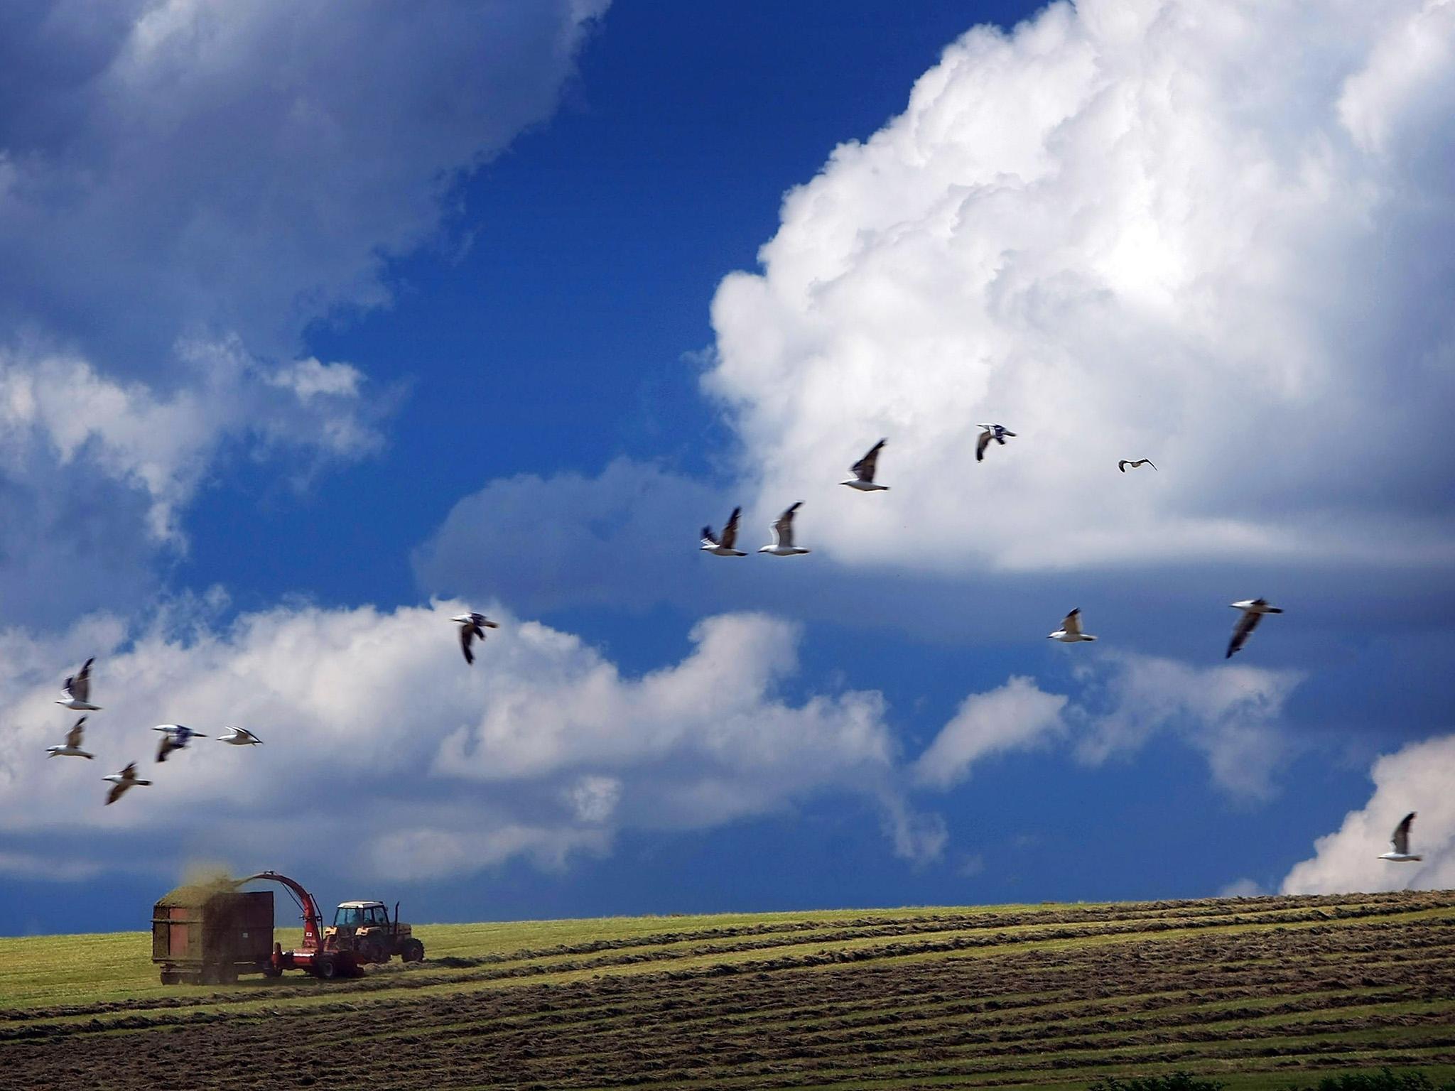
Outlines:
[[[1455,886],[1455,735],[1410,743],[1369,770],[1374,794],[1343,825],[1314,842],[1314,855],[1283,877],[1283,893],[1349,890],[1446,890]],[[1419,864],[1379,860],[1394,828],[1410,812],[1419,818],[1410,851]]]

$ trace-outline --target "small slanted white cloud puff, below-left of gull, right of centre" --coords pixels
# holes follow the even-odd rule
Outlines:
[[[981,758],[1030,749],[1065,729],[1067,697],[1042,692],[1030,678],[1011,676],[986,694],[970,694],[954,719],[915,762],[920,784],[947,788]]]

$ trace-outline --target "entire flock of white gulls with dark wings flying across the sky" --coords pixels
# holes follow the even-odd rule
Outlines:
[[[975,461],[985,461],[985,451],[994,442],[1000,447],[1005,445],[1005,439],[1016,438],[1016,433],[1008,431],[1004,425],[979,425],[981,433],[975,444]],[[851,477],[841,481],[841,484],[854,489],[856,492],[888,492],[888,484],[879,484],[874,480],[874,474],[879,468],[879,452],[885,448],[885,439],[880,439],[869,451],[850,467]],[[1120,473],[1126,473],[1128,467],[1136,470],[1142,465],[1151,465],[1157,470],[1157,465],[1151,458],[1122,458],[1117,461],[1116,468]],[[796,500],[789,505],[783,513],[773,522],[773,541],[762,546],[758,553],[767,553],[771,557],[799,557],[810,550],[796,546],[793,541],[793,516],[797,515],[799,508],[803,506],[802,500]],[[748,554],[738,548],[738,522],[742,516],[742,508],[733,508],[732,515],[728,516],[728,522],[723,525],[722,534],[714,534],[711,527],[703,527],[701,548],[716,557],[746,557]],[[1238,652],[1253,634],[1253,630],[1259,627],[1259,623],[1266,614],[1282,614],[1279,607],[1269,605],[1264,598],[1250,598],[1241,602],[1229,604],[1234,610],[1241,611],[1238,621],[1232,628],[1232,639],[1228,642],[1228,652],[1224,656],[1231,659],[1235,652]],[[464,653],[464,662],[467,665],[474,663],[473,644],[476,640],[485,642],[486,628],[499,628],[499,623],[490,621],[485,614],[477,614],[474,611],[469,614],[458,614],[450,618],[453,624],[458,627],[460,634],[460,650]],[[1059,640],[1064,644],[1077,644],[1096,640],[1091,633],[1081,628],[1081,610],[1072,610],[1061,620],[1061,627],[1053,633],[1046,634],[1048,640]],[[65,679],[63,687],[63,700],[58,700],[64,708],[81,713],[100,711],[100,706],[90,703],[90,668],[93,659],[87,659],[81,669],[71,678]],[[67,732],[65,743],[61,746],[48,746],[47,752],[51,758],[93,758],[95,755],[87,754],[81,749],[83,738],[86,730],[86,716],[81,716]],[[162,743],[157,748],[157,761],[163,762],[167,755],[173,751],[186,749],[192,739],[205,739],[208,736],[201,732],[195,732],[191,727],[178,723],[163,723],[157,724],[153,730],[162,732]],[[233,746],[256,746],[262,743],[256,735],[244,727],[226,726],[223,735],[218,736],[218,742],[231,743]],[[129,788],[150,786],[150,780],[141,780],[137,777],[137,762],[131,762],[121,772],[113,772],[102,780],[111,781],[112,788],[106,794],[106,804],[115,803],[121,799]],[[1379,860],[1390,860],[1394,863],[1413,863],[1423,860],[1423,857],[1410,852],[1410,828],[1414,823],[1414,812],[1404,816],[1400,825],[1394,831],[1394,836],[1390,839],[1394,845],[1392,852],[1384,852]]]

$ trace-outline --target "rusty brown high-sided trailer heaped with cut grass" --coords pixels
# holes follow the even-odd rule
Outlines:
[[[179,886],[151,911],[151,962],[162,983],[230,985],[240,973],[276,976],[272,890]]]

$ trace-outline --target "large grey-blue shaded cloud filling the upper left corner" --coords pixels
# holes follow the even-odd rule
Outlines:
[[[65,569],[144,595],[228,452],[298,483],[380,448],[399,390],[308,356],[307,327],[388,304],[388,262],[442,241],[460,179],[550,116],[607,3],[0,10],[9,617],[96,601]]]

